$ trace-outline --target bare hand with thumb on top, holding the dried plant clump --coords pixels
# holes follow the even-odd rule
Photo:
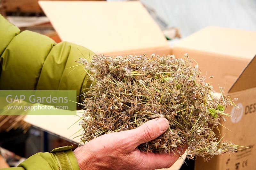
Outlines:
[[[132,130],[113,132],[97,137],[74,153],[81,170],[96,169],[160,169],[169,168],[182,153],[141,152],[137,146],[151,141],[169,128],[165,118],[150,120]]]

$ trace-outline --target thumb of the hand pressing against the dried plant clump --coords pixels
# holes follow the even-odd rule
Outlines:
[[[143,123],[140,127],[130,131],[133,136],[132,148],[151,141],[162,135],[169,128],[167,119],[160,117]]]

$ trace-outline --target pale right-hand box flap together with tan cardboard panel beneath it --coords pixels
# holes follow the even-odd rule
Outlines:
[[[212,85],[225,92],[234,83],[256,53],[256,32],[220,27],[206,27],[173,46],[172,54],[188,53],[207,77],[214,76]],[[210,80],[209,80],[210,81]]]

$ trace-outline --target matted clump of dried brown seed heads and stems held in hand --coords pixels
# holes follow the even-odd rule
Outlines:
[[[141,144],[141,151],[170,153],[186,145],[189,158],[202,156],[206,160],[236,151],[236,145],[221,142],[213,132],[224,116],[230,116],[224,113],[226,106],[234,103],[222,88],[222,97],[214,96],[212,85],[204,82],[198,65],[187,54],[182,59],[155,54],[150,58],[94,55],[91,63],[79,62],[91,71],[93,80],[84,93],[83,142],[165,117],[169,129]]]

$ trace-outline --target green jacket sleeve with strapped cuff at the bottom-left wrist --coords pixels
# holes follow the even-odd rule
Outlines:
[[[20,163],[18,167],[5,168],[5,170],[79,170],[71,148],[73,146],[64,146],[56,148],[50,153],[39,152]]]

